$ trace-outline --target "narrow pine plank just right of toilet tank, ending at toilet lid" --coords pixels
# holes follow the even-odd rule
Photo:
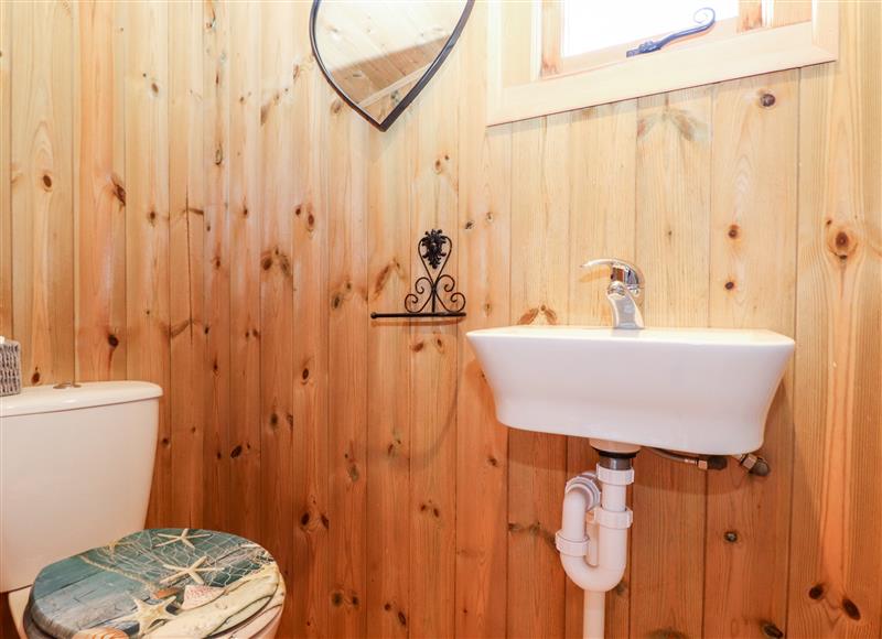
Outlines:
[[[170,6],[171,521],[203,521],[205,331],[203,322],[202,2]],[[211,176],[211,173],[208,174]]]

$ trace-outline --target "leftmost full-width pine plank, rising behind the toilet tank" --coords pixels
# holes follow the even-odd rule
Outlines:
[[[74,376],[72,11],[63,2],[10,10],[12,328],[32,385]]]

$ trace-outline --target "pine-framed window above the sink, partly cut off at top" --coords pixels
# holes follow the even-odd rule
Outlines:
[[[647,40],[713,25],[627,56]],[[836,59],[838,2],[491,0],[487,123]],[[707,17],[707,18],[706,18]]]

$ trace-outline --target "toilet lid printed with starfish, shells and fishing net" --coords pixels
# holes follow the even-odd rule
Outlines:
[[[29,611],[56,639],[208,637],[259,630],[284,603],[272,556],[235,534],[163,528],[55,562],[36,576]],[[245,636],[250,632],[245,632]]]

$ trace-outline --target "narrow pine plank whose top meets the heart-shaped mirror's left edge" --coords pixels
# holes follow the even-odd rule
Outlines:
[[[298,13],[297,30],[306,30],[308,14]],[[305,39],[297,50],[292,76],[300,109],[293,140],[308,171],[292,176],[294,208],[294,630],[298,636],[326,637],[329,544],[329,165],[326,160],[330,87],[310,64]]]

